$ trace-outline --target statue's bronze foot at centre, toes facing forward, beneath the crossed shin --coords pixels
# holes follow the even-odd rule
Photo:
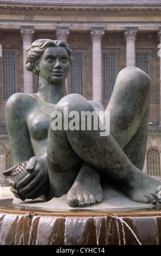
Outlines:
[[[103,199],[102,187],[100,185],[100,176],[93,167],[87,167],[86,164],[80,169],[80,172],[67,193],[67,204],[70,206],[89,206],[101,203]]]

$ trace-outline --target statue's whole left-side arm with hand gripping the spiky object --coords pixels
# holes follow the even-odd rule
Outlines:
[[[48,187],[48,170],[46,154],[34,156],[32,143],[27,126],[27,117],[32,108],[30,96],[15,94],[10,97],[5,107],[5,120],[13,151],[15,164],[27,161],[28,175],[17,184],[10,180],[11,191],[17,198],[36,198],[45,193]],[[9,176],[13,168],[5,170],[4,175]]]

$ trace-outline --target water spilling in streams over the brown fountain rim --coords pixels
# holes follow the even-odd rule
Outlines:
[[[0,213],[0,245],[159,245],[160,234],[160,216]]]

